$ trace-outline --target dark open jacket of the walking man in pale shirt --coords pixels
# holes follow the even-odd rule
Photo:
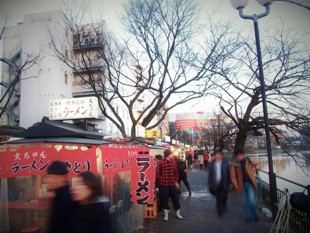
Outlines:
[[[222,181],[221,188],[224,191],[228,191],[228,185],[232,184],[232,180],[230,177],[230,165],[229,162],[222,158]],[[208,176],[209,186],[211,185],[212,191],[216,190],[216,169],[215,169],[215,160],[213,160],[210,164],[209,176]]]

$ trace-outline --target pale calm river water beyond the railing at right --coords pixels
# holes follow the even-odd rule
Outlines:
[[[247,154],[247,156],[251,158],[255,158],[261,162],[261,170],[269,171],[268,168],[268,158],[267,153],[260,154]],[[308,165],[308,170],[304,169],[296,165],[294,159],[290,156],[287,156],[286,153],[281,151],[272,152],[272,163],[273,163],[273,172],[276,173],[277,176],[284,177],[288,180],[295,181],[302,185],[310,185],[310,166]],[[308,176],[306,175],[308,174]],[[269,184],[269,176],[266,173],[259,171],[259,175],[261,179]],[[280,190],[284,190],[287,188],[290,193],[293,192],[302,192],[304,188],[294,185],[290,182],[277,178],[277,188]],[[307,194],[307,191],[305,191]]]

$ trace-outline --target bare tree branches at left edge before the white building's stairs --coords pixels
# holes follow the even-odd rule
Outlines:
[[[9,39],[7,37],[3,37],[5,34],[5,26],[7,21],[9,21],[13,16],[8,16],[6,12],[1,11],[0,13],[4,16],[4,26],[1,29],[0,40],[1,39]],[[15,34],[13,37],[16,37]],[[11,38],[10,38],[11,39]],[[41,51],[33,52],[33,53],[20,53],[18,58],[16,57],[6,57],[7,54],[4,53],[0,54],[1,61],[8,64],[7,69],[3,70],[3,72],[7,73],[10,77],[8,82],[2,82],[3,91],[0,99],[1,104],[1,112],[0,118],[2,117],[3,113],[8,108],[8,105],[11,101],[12,96],[14,95],[15,91],[19,89],[18,83],[20,80],[29,79],[29,78],[37,78],[41,73],[42,70],[40,68],[40,63],[42,61]],[[22,61],[22,57],[24,58]],[[30,69],[36,69],[37,73],[35,75],[27,75],[27,71]],[[23,74],[23,78],[21,75]],[[14,111],[14,109],[10,109],[8,111]]]

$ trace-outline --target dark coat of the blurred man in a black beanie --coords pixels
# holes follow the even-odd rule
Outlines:
[[[50,218],[51,233],[67,233],[69,231],[69,218],[73,208],[69,186],[66,185],[55,191],[53,209]]]

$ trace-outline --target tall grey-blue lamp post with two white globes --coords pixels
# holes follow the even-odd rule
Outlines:
[[[258,60],[258,68],[259,68],[259,80],[260,80],[260,88],[262,92],[262,103],[263,103],[263,115],[264,115],[264,124],[265,124],[265,133],[266,133],[266,143],[267,143],[267,156],[268,156],[268,167],[269,167],[269,184],[270,184],[270,201],[272,208],[272,217],[275,218],[277,213],[277,208],[275,206],[276,203],[276,193],[275,193],[275,182],[273,177],[273,165],[272,165],[272,152],[271,152],[271,142],[270,142],[270,132],[269,132],[269,121],[268,121],[268,111],[267,111],[267,103],[266,103],[266,90],[265,90],[265,81],[263,74],[263,62],[262,62],[262,54],[260,50],[260,41],[259,41],[259,28],[258,28],[258,19],[264,16],[267,16],[270,12],[270,5],[273,0],[257,0],[259,5],[264,6],[266,11],[262,14],[253,16],[244,15],[243,8],[246,7],[249,0],[230,0],[230,4],[233,8],[239,11],[239,16],[243,19],[250,19],[254,22],[254,32],[255,32],[255,40],[256,40],[256,50],[257,50],[257,60]]]

